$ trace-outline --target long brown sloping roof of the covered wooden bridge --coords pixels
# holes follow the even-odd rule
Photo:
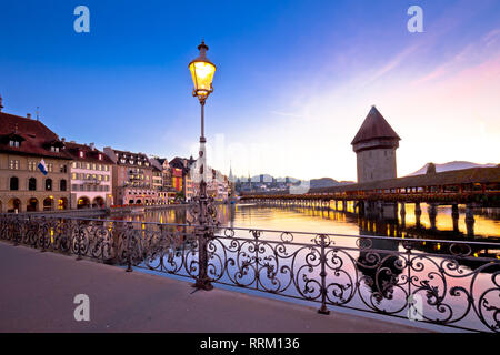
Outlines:
[[[379,180],[343,186],[318,187],[311,189],[309,193],[371,191],[377,189],[389,190],[389,189],[404,189],[404,187],[459,185],[470,183],[500,183],[500,166],[472,168],[433,174],[422,174],[397,179]]]

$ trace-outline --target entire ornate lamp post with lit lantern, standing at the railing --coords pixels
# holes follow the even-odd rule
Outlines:
[[[207,274],[208,267],[208,253],[207,253],[207,240],[210,236],[210,217],[208,215],[208,197],[207,197],[207,182],[204,181],[206,175],[206,149],[204,143],[207,139],[204,138],[204,102],[209,94],[213,91],[212,80],[216,73],[216,65],[208,60],[207,51],[208,47],[204,41],[198,45],[200,55],[189,63],[189,70],[191,71],[192,81],[194,83],[194,89],[192,91],[193,97],[198,97],[201,105],[201,135],[200,135],[200,152],[199,152],[199,175],[200,175],[200,189],[199,195],[194,199],[194,210],[198,214],[194,216],[197,222],[197,236],[198,236],[198,277],[194,287],[201,290],[212,290],[213,286],[210,283],[210,278]]]

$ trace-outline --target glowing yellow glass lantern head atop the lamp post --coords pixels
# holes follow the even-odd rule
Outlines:
[[[203,102],[213,91],[212,80],[216,73],[216,65],[207,58],[208,45],[204,44],[204,41],[201,41],[198,50],[200,55],[189,63],[189,70],[194,84],[192,95],[198,97],[200,102]]]

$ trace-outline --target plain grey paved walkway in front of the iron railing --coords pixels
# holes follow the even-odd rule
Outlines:
[[[426,332],[0,242],[0,332]],[[90,321],[77,322],[77,294]]]

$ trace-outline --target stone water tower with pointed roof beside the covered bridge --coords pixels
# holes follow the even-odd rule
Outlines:
[[[401,139],[372,106],[352,140],[358,183],[397,178],[396,150]]]

